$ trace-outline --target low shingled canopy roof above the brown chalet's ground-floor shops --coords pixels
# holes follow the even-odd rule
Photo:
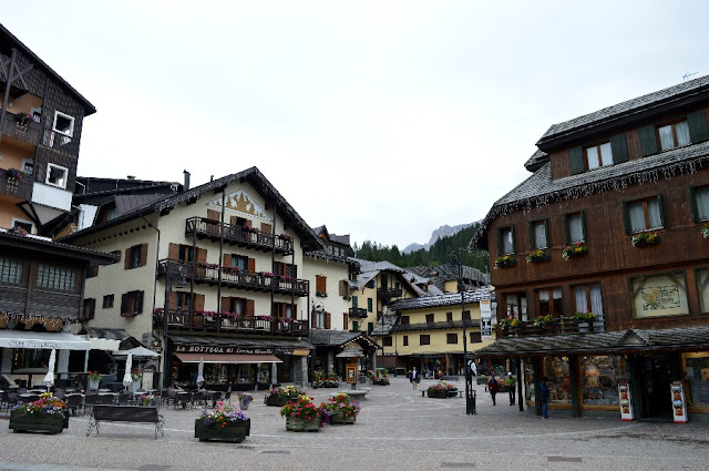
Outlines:
[[[508,337],[475,351],[479,357],[693,350],[709,348],[709,326],[629,329],[602,334]]]

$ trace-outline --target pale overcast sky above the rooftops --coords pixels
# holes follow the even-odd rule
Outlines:
[[[706,75],[709,2],[4,1],[85,96],[79,175],[257,166],[311,226],[400,249],[482,219],[554,123]]]

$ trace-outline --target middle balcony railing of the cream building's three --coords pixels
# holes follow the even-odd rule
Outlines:
[[[222,272],[222,286],[247,289],[251,291],[270,291],[282,295],[307,296],[310,290],[310,283],[307,279],[296,279],[289,276],[273,275],[266,272],[253,273],[243,272],[236,267],[220,267],[216,264],[195,264],[178,260],[160,260],[158,275],[164,276],[169,273],[172,278],[194,279],[194,283],[217,285],[219,283],[219,272]]]

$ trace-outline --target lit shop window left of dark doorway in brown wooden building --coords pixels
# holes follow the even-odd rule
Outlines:
[[[580,359],[582,401],[584,405],[618,406],[618,382],[629,381],[623,357],[584,357]]]

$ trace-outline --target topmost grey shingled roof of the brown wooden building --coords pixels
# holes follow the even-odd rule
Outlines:
[[[536,145],[545,150],[545,145],[552,141],[558,141],[580,131],[600,132],[599,129],[603,126],[617,126],[620,121],[637,121],[638,119],[647,119],[654,112],[667,112],[668,107],[686,106],[688,100],[702,95],[707,91],[709,91],[709,75],[689,80],[573,120],[553,124]]]

